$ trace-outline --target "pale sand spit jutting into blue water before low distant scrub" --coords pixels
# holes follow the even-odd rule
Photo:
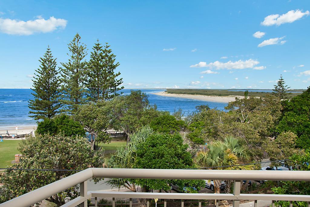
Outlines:
[[[192,95],[192,94],[175,94],[175,93],[166,93],[166,92],[157,92],[153,93],[158,96],[166,96],[166,97],[179,97],[179,98],[190,98],[202,101],[214,101],[214,102],[222,102],[228,103],[231,101],[235,101],[235,97],[242,98],[242,96],[205,96],[205,95]]]

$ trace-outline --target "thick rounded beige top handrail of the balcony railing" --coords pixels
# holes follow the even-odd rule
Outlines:
[[[86,182],[85,185],[87,185],[87,180],[90,178],[310,181],[310,171],[88,168],[34,191],[30,191],[22,196],[8,200],[0,204],[0,207],[31,206],[79,183]],[[87,195],[87,192],[83,193]]]

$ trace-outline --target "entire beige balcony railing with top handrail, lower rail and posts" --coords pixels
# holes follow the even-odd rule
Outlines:
[[[213,193],[142,193],[142,192],[106,192],[87,191],[87,180],[90,178],[147,178],[147,179],[204,179],[204,180],[234,180],[232,194]],[[115,198],[129,198],[132,206],[132,198],[147,199],[180,199],[181,206],[184,200],[232,200],[233,206],[239,206],[240,200],[270,200],[272,206],[274,201],[284,200],[308,202],[309,195],[274,195],[274,194],[240,194],[240,184],[242,180],[290,180],[290,181],[310,181],[310,171],[263,171],[263,170],[187,170],[187,169],[111,169],[111,168],[89,168],[75,173],[69,177],[53,182],[34,191],[18,196],[12,200],[0,204],[0,207],[28,207],[34,205],[50,196],[53,196],[70,187],[80,184],[80,196],[70,200],[63,207],[73,207],[80,205],[87,206],[87,199],[95,197],[95,207],[97,207],[97,197],[112,198],[112,206],[115,206]],[[201,206],[201,201],[199,206]],[[217,202],[218,205],[218,202]]]

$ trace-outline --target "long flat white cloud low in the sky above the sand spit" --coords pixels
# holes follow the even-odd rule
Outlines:
[[[215,61],[207,64],[206,62],[199,62],[196,65],[191,65],[191,68],[202,68],[209,67],[215,69],[245,69],[245,68],[253,68],[255,65],[259,64],[259,61],[255,61],[253,59],[249,59],[246,61],[238,60],[238,61],[228,61],[226,63]]]

